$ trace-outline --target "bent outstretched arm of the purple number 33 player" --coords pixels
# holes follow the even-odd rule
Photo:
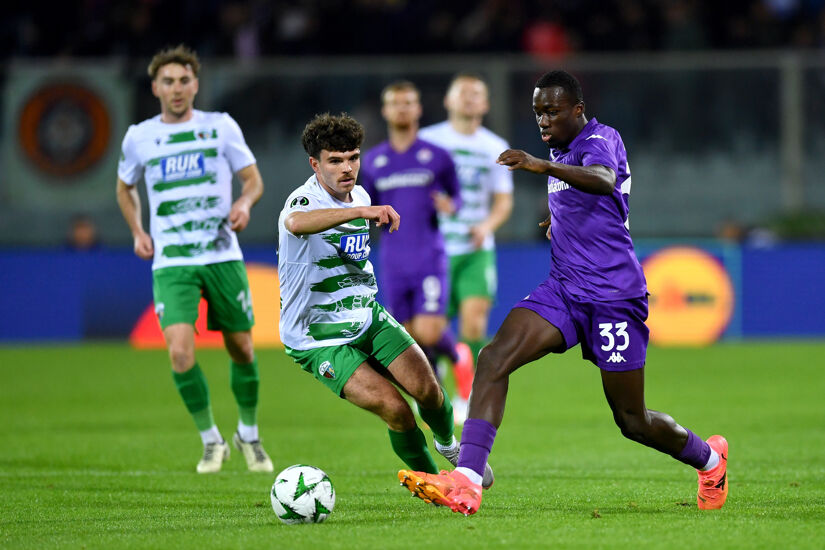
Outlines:
[[[539,159],[516,149],[507,149],[499,155],[496,162],[509,166],[510,170],[525,170],[559,178],[579,191],[594,195],[609,195],[616,186],[616,172],[601,164],[569,166]]]

